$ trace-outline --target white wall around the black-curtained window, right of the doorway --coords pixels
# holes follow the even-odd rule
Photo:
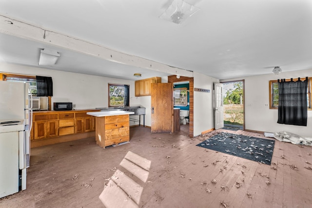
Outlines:
[[[287,131],[301,136],[312,136],[312,111],[308,111],[307,126],[277,123],[278,110],[265,107],[269,104],[269,81],[281,78],[312,76],[312,70],[282,72],[280,75],[247,76],[224,81],[245,80],[245,128],[261,132]]]

